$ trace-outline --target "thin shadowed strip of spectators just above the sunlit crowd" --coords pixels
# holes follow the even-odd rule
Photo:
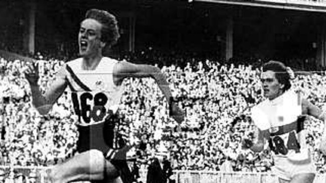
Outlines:
[[[64,49],[63,47],[66,47]],[[42,54],[39,51],[35,51],[34,54],[29,53],[27,51],[23,51],[21,47],[15,46],[15,44],[11,45],[11,43],[2,44],[0,43],[0,50],[6,50],[11,52],[16,52],[24,56],[33,57],[36,59],[60,59],[60,60],[69,60],[72,58],[77,57],[78,55],[75,50],[75,44],[65,44],[65,45],[57,45],[56,49],[49,50],[49,49],[42,49]],[[119,60],[127,59],[132,60],[135,63],[148,63],[152,64],[155,60],[155,63],[159,66],[170,66],[171,64],[178,65],[184,68],[187,63],[191,63],[191,65],[195,65],[198,60],[219,60],[220,64],[225,64],[232,62],[236,65],[238,64],[250,64],[253,67],[258,67],[264,63],[264,61],[268,61],[269,58],[257,58],[254,56],[247,56],[245,54],[235,55],[234,57],[230,58],[229,60],[225,60],[218,55],[216,52],[206,52],[206,53],[199,53],[197,51],[188,51],[188,50],[181,50],[181,49],[174,49],[174,50],[166,50],[162,48],[154,48],[153,46],[143,47],[142,49],[137,49],[135,51],[126,51],[126,50],[115,50],[105,52],[106,55],[110,55],[115,57]],[[287,57],[281,58],[284,60],[284,63],[295,70],[324,70],[326,69],[322,65],[316,62],[314,57]]]

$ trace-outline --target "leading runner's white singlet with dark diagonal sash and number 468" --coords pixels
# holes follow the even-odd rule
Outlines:
[[[82,58],[65,65],[79,125],[103,122],[108,114],[117,110],[122,95],[121,86],[113,82],[113,67],[117,62],[103,57],[95,70],[83,70]]]

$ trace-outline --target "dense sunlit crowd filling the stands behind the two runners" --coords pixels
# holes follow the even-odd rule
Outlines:
[[[123,58],[132,60],[130,55]],[[180,125],[169,117],[168,102],[153,79],[126,79],[123,83],[119,109],[122,122],[117,131],[128,139],[127,143],[136,146],[140,167],[146,168],[145,162],[153,155],[168,152],[173,169],[268,172],[273,165],[270,152],[253,153],[242,149],[240,143],[241,137],[248,135],[244,129],[251,124],[250,108],[263,99],[259,67],[186,60],[188,63],[183,66],[161,66],[174,99],[186,110],[186,120]],[[38,62],[39,84],[45,89],[64,61]],[[55,164],[75,150],[77,117],[70,90],[65,91],[48,115],[40,115],[32,107],[29,84],[22,74],[26,64],[0,58],[0,164]],[[323,107],[324,73],[298,75],[293,85],[302,89],[311,102]],[[231,133],[234,123],[240,125]],[[316,150],[323,124],[310,117],[305,125],[317,169],[324,172],[325,156]]]

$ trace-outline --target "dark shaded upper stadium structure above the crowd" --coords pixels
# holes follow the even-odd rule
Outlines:
[[[324,67],[326,6],[296,1],[2,0],[0,48],[73,56],[76,22],[89,8],[105,8],[117,16],[123,35],[111,55],[152,47],[233,61],[300,59],[299,67]]]

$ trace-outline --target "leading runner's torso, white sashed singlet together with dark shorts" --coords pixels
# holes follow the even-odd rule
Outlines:
[[[117,62],[103,57],[94,70],[83,70],[82,58],[64,65],[66,82],[78,116],[79,152],[98,149],[106,154],[110,148],[119,147],[115,128],[122,87],[113,81],[113,68]]]

